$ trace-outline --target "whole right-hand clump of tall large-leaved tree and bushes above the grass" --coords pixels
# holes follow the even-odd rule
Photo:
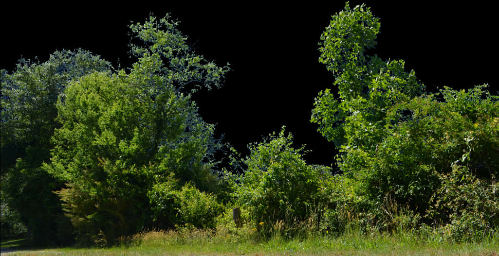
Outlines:
[[[407,220],[419,220],[433,201],[441,209],[432,208],[422,220],[431,223],[430,216],[439,216],[440,223],[452,222],[448,231],[459,239],[470,239],[473,229],[495,229],[497,221],[483,216],[495,216],[498,210],[488,202],[495,199],[490,184],[499,169],[499,97],[491,96],[485,85],[467,92],[446,87],[442,99],[423,94],[424,86],[414,71],[404,71],[403,61],[366,54],[379,28],[369,8],[352,9],[347,3],[321,36],[319,61],[335,75],[338,98],[329,89],[320,92],[311,122],[339,149],[337,164],[345,178],[330,183],[330,189],[347,187],[352,193],[331,193],[335,207],[326,212],[330,220],[325,225],[345,223],[346,210],[378,229],[389,229],[394,218],[386,216],[402,213]],[[463,179],[469,177],[466,185],[451,184],[453,169]],[[484,192],[470,194],[471,188]],[[342,198],[347,200],[341,203]],[[451,206],[457,202],[460,206]]]

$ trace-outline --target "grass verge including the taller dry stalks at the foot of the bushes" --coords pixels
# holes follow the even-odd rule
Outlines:
[[[395,210],[387,212],[394,212]],[[493,233],[478,243],[457,243],[446,239],[440,230],[411,227],[400,222],[400,213],[387,215],[383,222],[395,225],[379,229],[365,227],[363,216],[355,212],[342,213],[347,225],[343,232],[319,229],[317,215],[302,222],[277,221],[265,224],[265,233],[250,221],[236,227],[232,216],[222,216],[213,230],[179,227],[177,230],[149,230],[122,237],[113,248],[62,248],[42,251],[11,252],[10,255],[418,255],[418,256],[496,256],[499,255],[499,235]],[[399,217],[398,217],[399,216]],[[291,224],[292,223],[292,224]],[[378,223],[379,224],[379,223]],[[261,224],[263,226],[263,224]],[[266,237],[262,237],[262,235]],[[3,254],[2,254],[3,255]]]

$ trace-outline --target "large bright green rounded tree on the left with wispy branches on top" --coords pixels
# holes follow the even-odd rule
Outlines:
[[[44,168],[68,182],[58,193],[82,243],[172,228],[177,197],[158,196],[165,189],[193,182],[216,191],[213,154],[221,144],[185,89],[218,87],[228,68],[193,53],[176,26],[168,15],[132,24],[145,46],[132,45],[138,61],[129,74],[81,77],[57,104],[61,128]]]

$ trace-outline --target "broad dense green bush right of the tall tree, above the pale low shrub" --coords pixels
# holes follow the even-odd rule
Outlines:
[[[399,203],[410,202],[413,210],[424,213],[441,186],[438,175],[449,173],[451,165],[467,161],[471,171],[490,180],[499,167],[498,103],[483,88],[462,91],[458,98],[450,98],[456,91],[443,90],[445,103],[430,96],[400,104],[412,113],[410,120],[397,123],[375,154],[363,158],[364,169],[357,170],[366,173],[368,193],[374,198],[392,193]],[[473,103],[470,109],[480,113],[472,117],[456,112],[456,106],[465,102]],[[397,108],[389,113],[394,119],[400,115]]]

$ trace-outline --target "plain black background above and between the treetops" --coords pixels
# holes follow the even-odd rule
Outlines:
[[[362,1],[350,1],[353,7]],[[383,59],[403,59],[427,90],[450,86],[471,88],[488,83],[498,94],[497,16],[492,6],[474,2],[401,3],[366,1],[380,18],[381,33],[373,53]],[[69,5],[68,5],[69,4]],[[67,5],[67,6],[65,6]],[[140,5],[140,6],[138,6]],[[16,60],[44,62],[61,49],[83,48],[114,67],[130,67],[131,21],[143,22],[150,12],[171,13],[179,29],[196,42],[196,52],[218,65],[231,64],[221,89],[195,96],[205,121],[217,124],[217,134],[247,154],[246,145],[260,141],[285,125],[296,145],[307,144],[309,163],[331,165],[335,149],[310,113],[317,93],[332,86],[333,77],[318,62],[318,41],[331,15],[344,2],[301,4],[195,2],[185,4],[134,2],[72,5],[2,6],[1,68],[13,70]]]

